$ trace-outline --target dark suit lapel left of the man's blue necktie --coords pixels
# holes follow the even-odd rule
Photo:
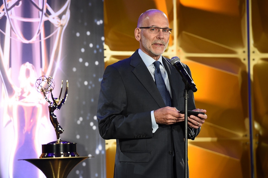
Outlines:
[[[152,79],[152,75],[142,61],[138,50],[136,50],[135,53],[131,56],[130,65],[134,67],[132,70],[133,74],[138,78],[144,88],[146,88],[146,90],[150,93],[152,98],[154,98],[159,107],[165,107],[166,105],[162,99],[162,96],[159,93],[154,80]]]

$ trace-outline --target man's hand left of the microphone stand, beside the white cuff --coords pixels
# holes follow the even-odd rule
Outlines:
[[[184,121],[184,114],[180,114],[174,107],[164,107],[154,111],[155,121],[157,124],[174,124]]]

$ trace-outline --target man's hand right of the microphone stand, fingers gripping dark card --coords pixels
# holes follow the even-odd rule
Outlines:
[[[198,112],[204,112],[206,113],[207,111],[205,109],[194,109],[193,111],[198,111]],[[202,126],[202,124],[205,123],[205,119],[207,119],[207,115],[203,114],[198,114],[198,117],[194,115],[188,116],[188,125],[191,128],[199,128]]]

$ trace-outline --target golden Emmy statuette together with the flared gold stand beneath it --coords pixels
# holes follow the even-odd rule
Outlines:
[[[47,178],[66,178],[69,172],[82,160],[89,157],[80,157],[76,151],[76,143],[63,141],[60,139],[60,134],[63,133],[63,128],[57,120],[54,111],[60,110],[65,104],[68,93],[68,80],[66,81],[66,89],[63,98],[61,98],[63,81],[61,83],[60,96],[54,98],[52,90],[55,82],[50,76],[41,76],[35,82],[35,87],[38,92],[43,93],[46,101],[49,103],[49,118],[54,126],[57,140],[48,144],[42,145],[42,154],[39,159],[23,159],[38,167]],[[46,94],[51,93],[52,101],[50,101]]]

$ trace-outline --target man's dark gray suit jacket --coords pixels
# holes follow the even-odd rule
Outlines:
[[[169,59],[163,57],[163,64],[169,77],[172,107],[183,110],[185,85],[182,78]],[[188,66],[185,67],[191,75]],[[164,101],[138,50],[130,58],[107,66],[101,83],[97,118],[102,138],[116,139],[114,177],[169,178],[173,151],[177,178],[184,177],[184,122],[159,124],[152,133],[150,113],[162,107],[165,107]],[[188,110],[193,109],[194,96],[189,91]],[[199,131],[189,131],[191,139]]]

